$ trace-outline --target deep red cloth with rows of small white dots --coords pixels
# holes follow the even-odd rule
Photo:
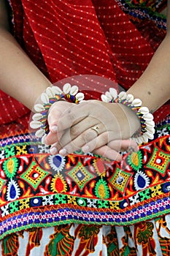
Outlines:
[[[88,74],[109,78],[128,89],[154,53],[150,40],[114,0],[12,0],[11,6],[16,39],[52,83]],[[107,87],[91,83],[88,90],[97,94]],[[6,102],[0,124],[28,113],[6,94],[0,97]]]

